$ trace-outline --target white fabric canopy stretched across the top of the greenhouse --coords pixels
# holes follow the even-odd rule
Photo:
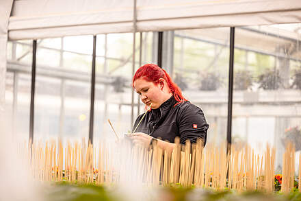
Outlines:
[[[9,38],[132,32],[133,1],[14,1]],[[138,32],[300,21],[300,0],[137,0]]]

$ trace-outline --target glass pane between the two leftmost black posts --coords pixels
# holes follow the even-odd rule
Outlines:
[[[35,140],[88,140],[92,42],[92,36],[38,40]]]

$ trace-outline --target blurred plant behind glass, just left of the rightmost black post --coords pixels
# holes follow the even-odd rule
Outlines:
[[[200,79],[200,90],[202,91],[215,91],[222,85],[220,75],[215,72],[204,73]]]

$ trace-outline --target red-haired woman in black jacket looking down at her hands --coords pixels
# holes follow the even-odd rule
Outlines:
[[[140,115],[135,121],[133,128],[142,119],[130,136],[134,143],[150,145],[155,140],[163,150],[172,150],[174,139],[179,137],[180,143],[202,139],[205,145],[209,125],[202,110],[183,97],[164,69],[155,64],[140,67],[133,77],[133,88],[146,106],[151,105],[145,117]]]

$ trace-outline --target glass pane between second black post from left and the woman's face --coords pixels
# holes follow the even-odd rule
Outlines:
[[[137,34],[139,37],[139,34]],[[131,130],[133,34],[97,36],[94,140],[115,140],[110,119],[118,134]],[[139,53],[139,38],[136,43]],[[136,61],[139,57],[136,57]],[[129,109],[130,108],[130,109]]]

